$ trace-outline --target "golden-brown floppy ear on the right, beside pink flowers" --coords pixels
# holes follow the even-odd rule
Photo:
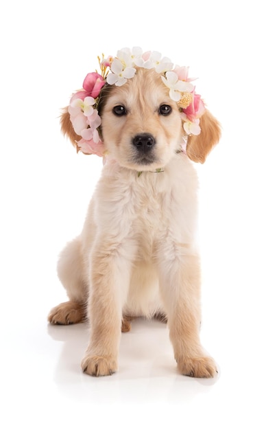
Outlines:
[[[200,117],[200,135],[191,135],[186,145],[186,155],[196,163],[204,163],[213,146],[219,142],[221,130],[219,122],[209,111]]]

